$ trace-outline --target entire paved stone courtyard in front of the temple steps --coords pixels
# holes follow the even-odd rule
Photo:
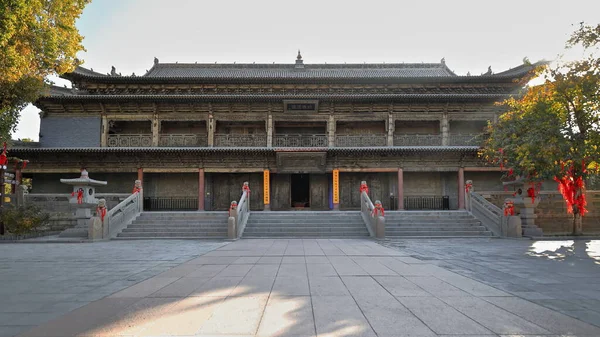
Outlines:
[[[0,336],[600,336],[600,241],[0,245]]]

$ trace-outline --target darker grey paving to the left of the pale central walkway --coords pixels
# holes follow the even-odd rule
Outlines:
[[[0,244],[0,336],[28,330],[224,244]]]

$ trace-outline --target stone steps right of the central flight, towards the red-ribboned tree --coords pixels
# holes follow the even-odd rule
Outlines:
[[[467,211],[386,211],[386,238],[490,237]]]

